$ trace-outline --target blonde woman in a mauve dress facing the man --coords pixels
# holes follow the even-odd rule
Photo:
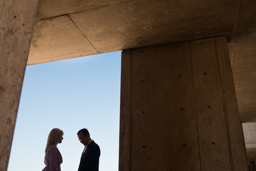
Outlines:
[[[60,164],[62,156],[57,148],[57,144],[63,140],[63,131],[58,128],[54,128],[49,133],[47,144],[45,148],[45,165],[46,167],[42,171],[61,171]]]

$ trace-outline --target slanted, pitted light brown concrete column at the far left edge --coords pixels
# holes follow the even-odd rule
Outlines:
[[[6,171],[38,7],[36,0],[0,0],[0,170]]]

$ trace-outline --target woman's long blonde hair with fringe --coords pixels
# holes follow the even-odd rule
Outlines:
[[[46,148],[45,148],[45,153],[47,152],[49,146],[51,145],[56,145],[58,144],[59,140],[61,139],[61,136],[63,136],[64,133],[62,130],[58,129],[58,128],[54,128],[51,130],[51,132],[49,133],[48,139],[47,139],[47,144],[46,144]]]

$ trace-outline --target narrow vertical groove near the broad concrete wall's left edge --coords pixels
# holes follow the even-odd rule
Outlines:
[[[131,50],[131,61],[130,61],[130,168],[132,170],[132,50]]]

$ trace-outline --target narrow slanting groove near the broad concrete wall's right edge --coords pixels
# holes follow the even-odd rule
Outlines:
[[[216,54],[216,60],[217,60],[217,66],[218,66],[221,98],[222,98],[223,112],[224,112],[224,117],[225,117],[225,126],[226,126],[226,131],[227,131],[227,141],[228,141],[228,150],[229,150],[229,156],[230,156],[230,165],[231,165],[231,170],[234,171],[234,163],[233,163],[233,157],[232,157],[232,152],[231,152],[231,143],[230,143],[229,130],[228,130],[227,113],[225,110],[226,109],[225,99],[224,99],[224,94],[223,94],[222,79],[221,79],[221,73],[220,73],[220,67],[219,67],[219,56],[218,56],[218,49],[217,49],[215,38],[214,38],[214,46],[215,46],[215,54]]]

